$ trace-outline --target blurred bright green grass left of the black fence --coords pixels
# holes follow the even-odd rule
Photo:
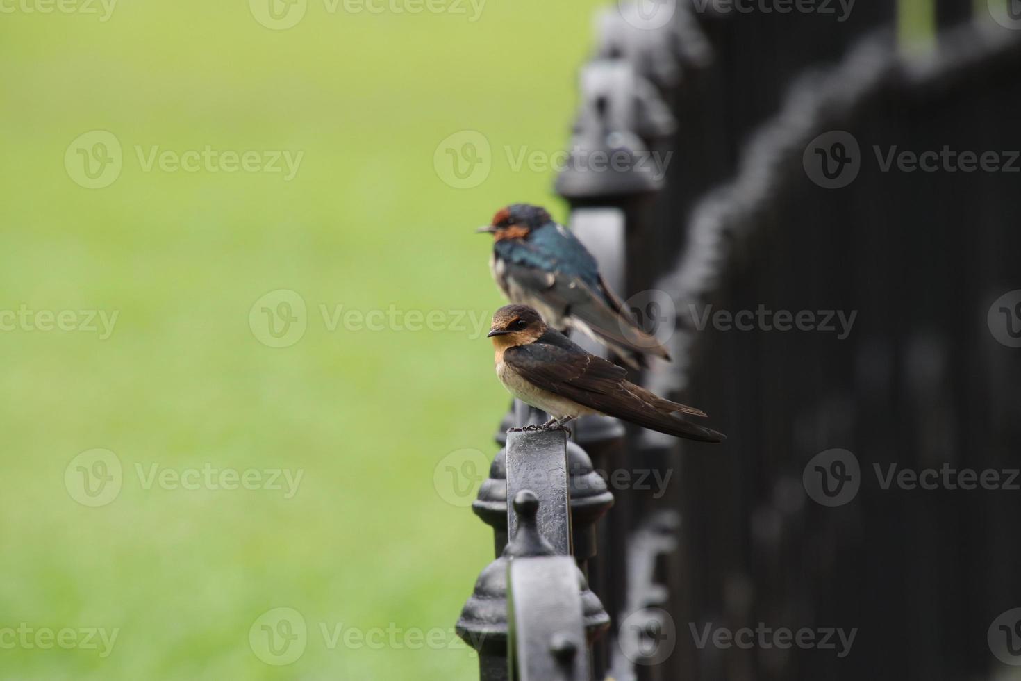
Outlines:
[[[330,331],[319,306],[501,304],[489,246],[471,230],[515,200],[564,216],[552,174],[515,172],[501,149],[567,143],[599,4],[492,2],[471,22],[329,14],[312,0],[279,32],[243,0],[123,2],[106,22],[0,17],[0,309],[119,310],[107,340],[0,333],[0,630],[119,629],[105,659],[0,647],[0,678],[472,678],[476,662],[449,633],[439,648],[331,649],[319,627],[452,627],[492,544],[433,473],[450,451],[495,450],[507,397],[488,343],[455,330]],[[92,130],[124,147],[104,189],[63,166]],[[483,133],[494,154],[470,190],[433,165],[461,130]],[[135,145],[304,157],[291,182],[146,173]],[[287,348],[248,325],[275,289],[308,306],[304,337]],[[125,481],[113,502],[87,507],[63,476],[95,447],[117,454]],[[153,464],[304,476],[291,499],[143,489],[135,467]],[[278,606],[309,629],[286,667],[248,643]]]

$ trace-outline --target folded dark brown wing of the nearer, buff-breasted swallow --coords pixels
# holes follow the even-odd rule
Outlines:
[[[677,437],[703,442],[724,439],[677,416],[706,416],[700,409],[663,399],[631,383],[627,371],[585,352],[557,332],[548,331],[534,343],[507,348],[503,361],[536,387],[606,416]]]

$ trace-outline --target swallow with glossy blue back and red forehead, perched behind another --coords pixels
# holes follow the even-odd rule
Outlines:
[[[514,203],[476,232],[493,235],[493,279],[512,303],[536,308],[563,333],[579,329],[633,369],[646,354],[670,359],[606,285],[588,249],[544,208]]]

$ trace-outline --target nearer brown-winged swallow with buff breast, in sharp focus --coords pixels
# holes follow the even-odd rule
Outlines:
[[[534,307],[500,307],[487,338],[496,351],[496,376],[507,392],[551,417],[523,430],[564,428],[578,417],[598,415],[689,440],[726,439],[722,433],[680,418],[704,417],[704,411],[631,383],[627,370],[549,327]]]

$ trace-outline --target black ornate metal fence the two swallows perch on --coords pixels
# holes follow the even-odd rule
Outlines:
[[[669,340],[643,382],[729,439],[513,434],[474,506],[497,560],[458,622],[483,679],[1021,665],[1017,3],[939,0],[921,46],[892,2],[736,4],[601,15],[557,181]],[[518,405],[497,440],[539,419]]]

